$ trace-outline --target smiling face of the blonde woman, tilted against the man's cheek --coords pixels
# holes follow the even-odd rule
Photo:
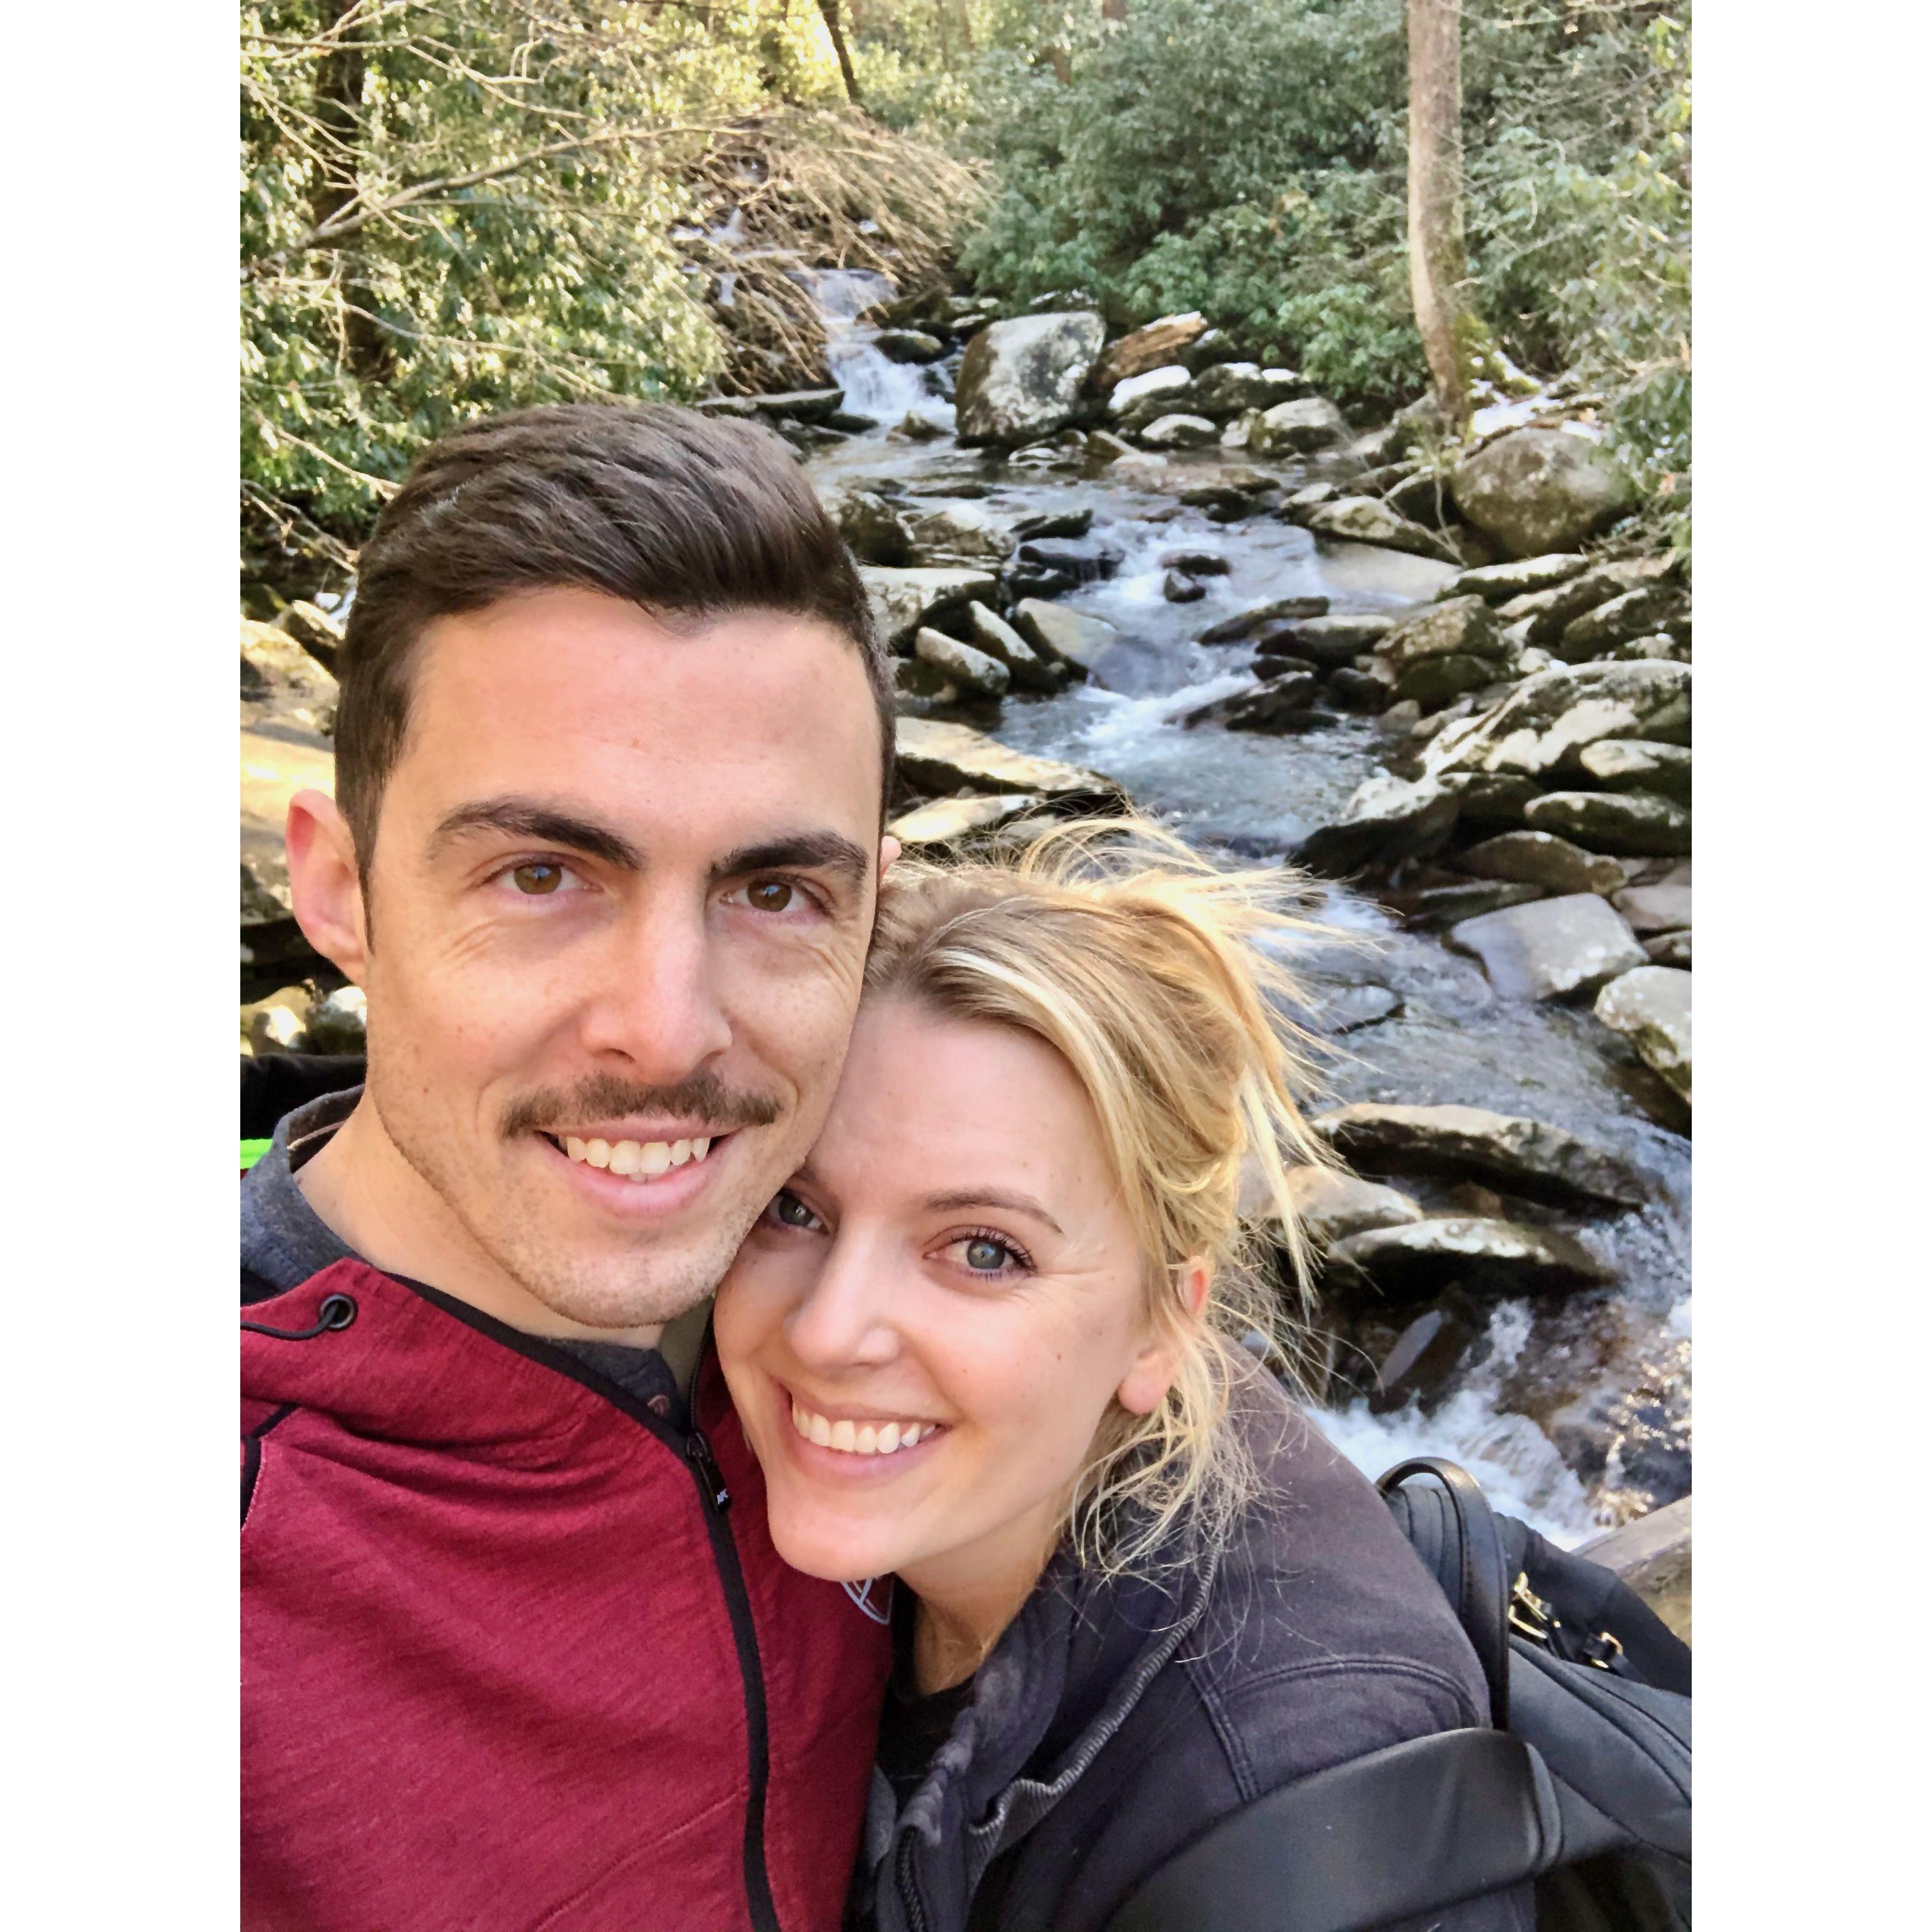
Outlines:
[[[1072,1070],[902,999],[862,1009],[717,1343],[779,1553],[920,1594],[1037,1563],[1109,1408],[1151,1410],[1175,1366]]]

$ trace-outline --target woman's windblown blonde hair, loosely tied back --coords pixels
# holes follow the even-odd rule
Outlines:
[[[1090,1567],[1219,1542],[1256,1486],[1225,1426],[1256,1372],[1240,1337],[1260,1329],[1289,1362],[1302,1354],[1269,1250],[1306,1304],[1287,1177],[1331,1155],[1302,1119],[1314,1041],[1277,956],[1320,931],[1285,910],[1304,891],[1283,867],[1221,869],[1130,817],[1055,825],[1005,860],[902,860],[881,893],[867,997],[1020,1028],[1066,1061],[1134,1225],[1150,1327],[1180,1345],[1167,1397],[1146,1416],[1117,1406],[1078,1478],[1066,1528]],[[1256,1182],[1265,1206],[1244,1217]],[[1204,1320],[1180,1294],[1196,1258],[1209,1267]]]

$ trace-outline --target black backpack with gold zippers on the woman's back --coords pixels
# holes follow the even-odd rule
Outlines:
[[[1374,1932],[1526,1882],[1538,1932],[1687,1932],[1690,1646],[1455,1463],[1401,1463],[1378,1488],[1482,1660],[1493,1729],[1283,1785],[1163,1864],[1107,1932]]]

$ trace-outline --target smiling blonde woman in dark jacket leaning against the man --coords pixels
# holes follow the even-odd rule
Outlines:
[[[1151,825],[895,871],[833,1113],[721,1291],[779,1551],[898,1580],[881,1932],[1101,1928],[1262,1793],[1486,1721],[1374,1490],[1231,1339],[1275,1298],[1244,1171],[1300,1275],[1285,1161],[1321,1157],[1279,885]]]

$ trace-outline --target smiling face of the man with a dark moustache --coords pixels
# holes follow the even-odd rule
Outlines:
[[[369,866],[369,1099],[554,1314],[684,1312],[804,1157],[879,779],[858,651],[813,618],[553,589],[423,634]]]

